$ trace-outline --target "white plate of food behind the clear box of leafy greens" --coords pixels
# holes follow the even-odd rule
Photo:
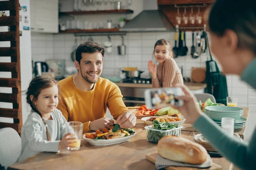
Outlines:
[[[172,124],[180,124],[180,125],[186,121],[186,118],[184,116],[177,117],[176,115],[143,117],[143,118],[141,118],[141,120],[143,120],[143,122],[146,124],[146,126],[153,125],[153,121],[157,118],[159,119],[158,120],[159,122],[163,122],[163,120],[164,120],[165,122],[170,122]],[[170,119],[172,119],[172,120],[170,120]],[[180,120],[180,119],[182,119],[182,120]]]

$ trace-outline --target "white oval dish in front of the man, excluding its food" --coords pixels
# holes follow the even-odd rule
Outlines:
[[[96,146],[106,146],[106,145],[110,145],[110,144],[118,144],[118,143],[122,143],[122,142],[127,142],[129,141],[134,135],[136,134],[136,132],[133,135],[130,136],[125,136],[122,138],[117,138],[117,139],[88,139],[85,137],[85,134],[83,135],[84,140],[86,140],[88,143],[92,144],[92,145],[96,145]]]

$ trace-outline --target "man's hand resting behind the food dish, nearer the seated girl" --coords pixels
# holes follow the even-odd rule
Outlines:
[[[109,119],[109,118],[101,118],[101,119],[97,119],[94,120],[93,122],[90,122],[90,130],[102,130],[103,127],[107,127],[108,129],[110,129],[111,126],[114,125],[114,120],[113,119]]]

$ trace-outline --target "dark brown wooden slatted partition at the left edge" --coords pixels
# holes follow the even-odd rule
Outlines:
[[[0,47],[0,71],[11,72],[11,78],[0,78],[0,88],[12,88],[12,93],[0,93],[0,102],[12,103],[12,109],[0,108],[0,117],[13,118],[13,123],[0,122],[0,128],[12,127],[20,133],[22,127],[20,88],[20,33],[19,1],[0,1],[0,11],[10,11],[10,16],[0,17],[0,26],[9,26],[9,31],[0,32],[0,42],[10,42],[10,47]],[[1,57],[10,57],[11,62],[1,62]],[[2,60],[3,61],[3,60]]]

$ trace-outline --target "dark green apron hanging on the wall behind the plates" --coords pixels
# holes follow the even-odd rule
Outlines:
[[[210,60],[206,62],[206,83],[207,93],[212,94],[217,103],[227,105],[227,79],[224,73],[219,71],[217,63],[212,59],[212,54],[209,49],[208,35],[206,34],[206,40],[210,55]]]

